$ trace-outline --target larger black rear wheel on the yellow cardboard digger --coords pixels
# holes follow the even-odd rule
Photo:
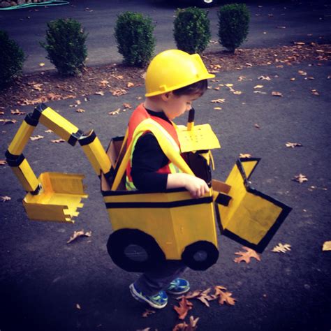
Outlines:
[[[165,262],[165,255],[156,240],[136,229],[112,233],[107,249],[114,263],[129,272],[145,272]]]

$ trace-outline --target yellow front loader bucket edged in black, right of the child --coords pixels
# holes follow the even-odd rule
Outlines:
[[[262,253],[291,208],[250,186],[259,161],[238,159],[215,205],[222,235]]]

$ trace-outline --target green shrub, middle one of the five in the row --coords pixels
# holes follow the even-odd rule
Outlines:
[[[152,59],[155,38],[150,17],[140,13],[125,12],[117,16],[115,38],[119,53],[128,66],[145,66]]]

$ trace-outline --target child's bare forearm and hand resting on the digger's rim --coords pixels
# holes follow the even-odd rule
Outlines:
[[[190,192],[192,198],[201,198],[209,191],[207,183],[201,178],[184,173],[169,174],[167,189],[177,187],[184,187]]]

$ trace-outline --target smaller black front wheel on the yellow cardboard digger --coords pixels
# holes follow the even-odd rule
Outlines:
[[[207,270],[219,258],[219,250],[211,242],[194,242],[185,247],[182,253],[183,262],[193,270]]]

